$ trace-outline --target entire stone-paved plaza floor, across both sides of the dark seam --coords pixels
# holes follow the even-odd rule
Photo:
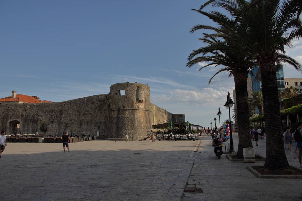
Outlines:
[[[235,149],[238,136],[234,135]],[[301,200],[301,179],[259,179],[196,141],[8,143],[0,200]],[[265,156],[264,140],[256,154]],[[287,154],[297,167],[297,153]],[[256,162],[253,165],[262,165]],[[185,186],[202,193],[185,192]]]

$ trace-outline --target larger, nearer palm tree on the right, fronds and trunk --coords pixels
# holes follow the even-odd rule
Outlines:
[[[209,0],[207,5],[225,9],[235,22],[246,27],[239,39],[246,42],[250,53],[259,64],[262,80],[263,105],[266,125],[265,168],[285,169],[288,161],[284,152],[281,117],[278,99],[276,67],[287,62],[297,70],[300,64],[285,55],[285,46],[302,37],[301,0]],[[233,31],[233,27],[227,27]],[[232,36],[230,36],[232,37]],[[233,39],[238,39],[234,38]]]

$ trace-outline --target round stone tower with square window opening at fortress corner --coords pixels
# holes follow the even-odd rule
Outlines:
[[[152,129],[150,87],[140,83],[118,83],[110,87],[108,138],[142,139]]]

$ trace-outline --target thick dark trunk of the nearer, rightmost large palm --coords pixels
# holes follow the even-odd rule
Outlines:
[[[275,61],[267,59],[259,67],[266,132],[264,166],[267,169],[285,169],[288,168],[288,161],[284,152]]]

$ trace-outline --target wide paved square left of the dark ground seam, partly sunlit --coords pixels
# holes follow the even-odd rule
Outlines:
[[[198,142],[8,143],[0,200],[179,200]]]

